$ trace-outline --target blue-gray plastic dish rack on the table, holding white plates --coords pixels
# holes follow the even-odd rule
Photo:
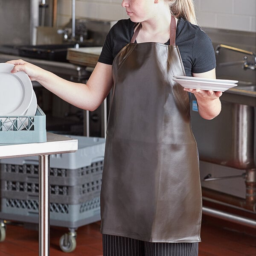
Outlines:
[[[35,116],[0,116],[0,143],[46,142],[46,116],[37,106]]]

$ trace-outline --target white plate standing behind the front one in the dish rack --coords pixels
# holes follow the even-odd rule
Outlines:
[[[35,116],[36,110],[37,110],[37,99],[36,99],[35,92],[33,90],[31,104],[29,105],[29,108],[23,114],[23,116]],[[4,121],[4,126],[2,128],[2,131],[12,131],[13,130],[12,124],[16,118],[9,117],[8,120],[6,120],[6,118],[1,118],[1,119],[2,119],[2,121]],[[21,125],[23,128],[25,128],[25,126],[27,126],[28,124],[29,124],[29,120],[26,117],[17,119],[16,125],[19,130],[20,130]]]

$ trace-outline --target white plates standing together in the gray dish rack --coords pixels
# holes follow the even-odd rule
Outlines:
[[[37,99],[29,76],[23,71],[11,73],[14,65],[0,63],[0,120],[3,130],[12,130],[12,116],[34,116]],[[8,116],[8,119],[6,119]],[[28,125],[27,118],[16,119],[17,126]]]

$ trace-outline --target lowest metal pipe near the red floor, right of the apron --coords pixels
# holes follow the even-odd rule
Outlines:
[[[240,217],[231,213],[223,212],[220,210],[212,209],[209,207],[203,207],[203,213],[212,217],[218,217],[223,220],[231,221],[236,224],[245,225],[247,227],[256,227],[256,221],[249,218]]]

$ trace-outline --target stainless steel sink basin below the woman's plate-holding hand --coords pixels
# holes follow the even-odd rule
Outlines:
[[[194,96],[191,103],[195,104],[193,101]],[[221,113],[212,120],[201,118],[191,109],[192,130],[201,160],[237,169],[255,168],[254,107],[222,101]]]

